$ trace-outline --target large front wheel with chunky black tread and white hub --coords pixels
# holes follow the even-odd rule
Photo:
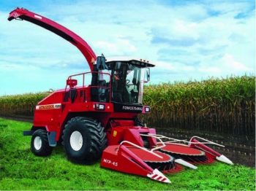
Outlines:
[[[77,139],[72,138],[72,134],[75,135],[77,132],[81,135],[78,136],[79,139],[83,141],[80,141],[79,147],[74,147],[71,140]],[[107,146],[106,133],[100,122],[87,117],[74,117],[69,120],[65,125],[62,139],[67,157],[74,163],[95,163]]]

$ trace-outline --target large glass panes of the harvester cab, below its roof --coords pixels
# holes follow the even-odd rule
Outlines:
[[[112,101],[141,104],[143,69],[130,63],[116,62],[112,68]]]

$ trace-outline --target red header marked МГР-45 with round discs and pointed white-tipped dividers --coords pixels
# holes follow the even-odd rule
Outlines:
[[[198,136],[193,136],[190,141],[151,133],[141,134],[141,136],[154,140],[152,142],[156,144],[150,146],[152,149],[140,147],[130,141],[122,141],[119,145],[109,146],[105,149],[101,166],[170,183],[164,174],[182,171],[182,166],[197,169],[195,165],[214,163],[214,160],[233,165],[227,157],[207,147],[206,144],[224,146]],[[162,141],[162,139],[168,141]],[[197,141],[197,139],[203,140],[203,142]]]

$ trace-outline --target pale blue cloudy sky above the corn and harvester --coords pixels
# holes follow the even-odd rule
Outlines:
[[[25,20],[24,7],[81,36],[96,55],[143,58],[151,84],[255,74],[255,1],[0,1],[0,95],[65,87],[89,71],[80,51]]]

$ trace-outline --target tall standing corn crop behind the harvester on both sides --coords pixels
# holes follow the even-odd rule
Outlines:
[[[0,115],[32,116],[35,105],[48,94],[1,96]],[[149,85],[143,104],[151,106],[151,114],[142,117],[149,127],[255,135],[255,77]]]

